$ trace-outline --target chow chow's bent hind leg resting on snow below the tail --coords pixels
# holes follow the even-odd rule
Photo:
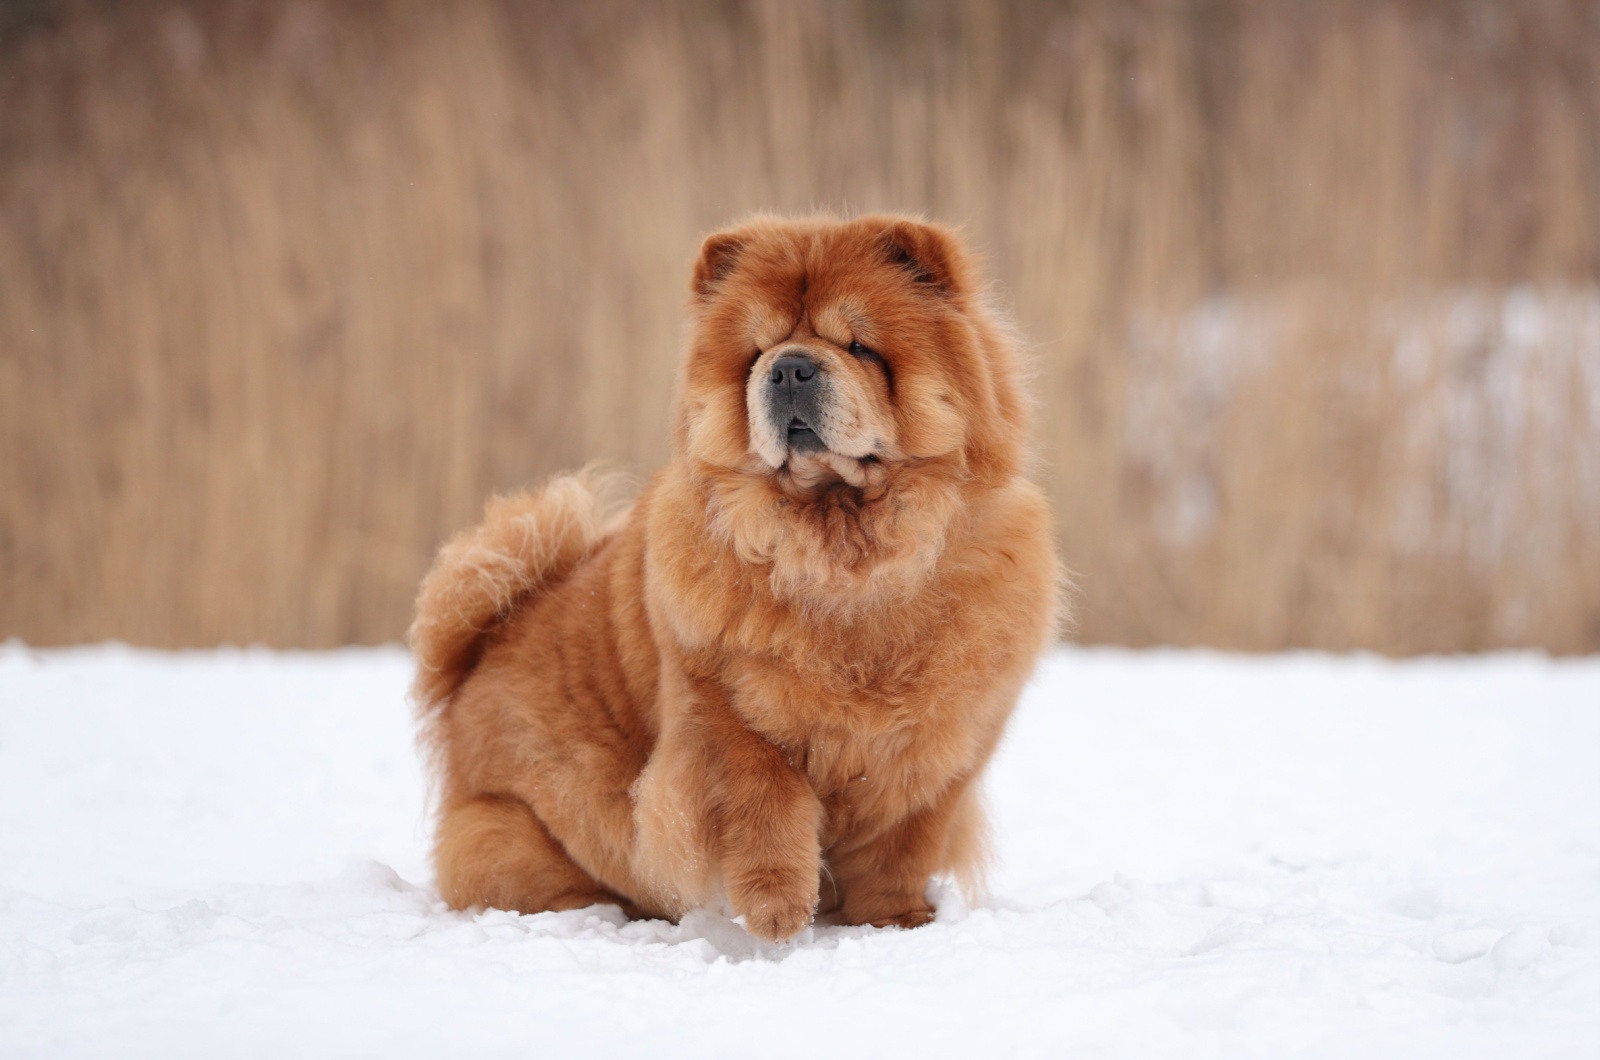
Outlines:
[[[634,914],[629,901],[579,868],[514,796],[474,796],[446,805],[437,836],[438,893],[454,909],[544,913],[611,903]]]

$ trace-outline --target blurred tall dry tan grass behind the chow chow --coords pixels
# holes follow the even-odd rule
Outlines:
[[[392,640],[750,210],[965,224],[1091,642],[1600,650],[1586,2],[0,6],[0,637]]]

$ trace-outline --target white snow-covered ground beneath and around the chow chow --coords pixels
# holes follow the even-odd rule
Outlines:
[[[446,911],[406,679],[0,647],[0,1055],[1600,1055],[1600,660],[1059,652],[994,897],[782,948]]]

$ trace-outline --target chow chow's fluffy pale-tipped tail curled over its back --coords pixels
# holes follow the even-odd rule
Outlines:
[[[477,665],[483,634],[600,544],[618,508],[614,484],[614,476],[586,469],[491,496],[483,524],[438,549],[410,632],[418,709],[443,706]]]

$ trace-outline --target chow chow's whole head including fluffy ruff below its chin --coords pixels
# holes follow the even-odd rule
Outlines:
[[[1018,472],[1011,341],[942,227],[758,218],[694,266],[678,456],[773,586],[914,591],[971,490]]]

